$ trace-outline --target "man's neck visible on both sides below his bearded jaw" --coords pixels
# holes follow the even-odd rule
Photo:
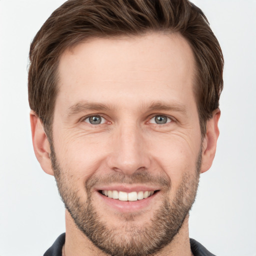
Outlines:
[[[97,248],[73,222],[72,217],[65,211],[66,235],[63,246],[63,256],[108,256]],[[154,256],[192,256],[188,236],[188,214],[173,240]]]

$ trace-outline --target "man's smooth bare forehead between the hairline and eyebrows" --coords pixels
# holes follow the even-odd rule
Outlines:
[[[194,57],[177,33],[91,38],[65,50],[58,68],[56,103],[193,98]]]

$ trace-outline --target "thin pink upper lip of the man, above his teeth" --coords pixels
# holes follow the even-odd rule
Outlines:
[[[111,185],[102,185],[95,190],[117,190],[117,191],[123,191],[123,192],[139,192],[139,191],[155,191],[160,190],[159,187],[151,186],[151,185],[134,185],[134,184],[111,184]]]

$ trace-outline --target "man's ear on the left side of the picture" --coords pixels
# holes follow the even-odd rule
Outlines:
[[[30,111],[30,125],[35,156],[40,163],[42,169],[46,173],[53,175],[49,156],[50,144],[44,132],[41,120],[32,110]]]

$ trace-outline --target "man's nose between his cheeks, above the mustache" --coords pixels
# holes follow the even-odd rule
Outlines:
[[[148,169],[150,156],[142,130],[134,125],[123,125],[112,134],[112,150],[108,155],[108,167],[132,175],[138,169]]]

